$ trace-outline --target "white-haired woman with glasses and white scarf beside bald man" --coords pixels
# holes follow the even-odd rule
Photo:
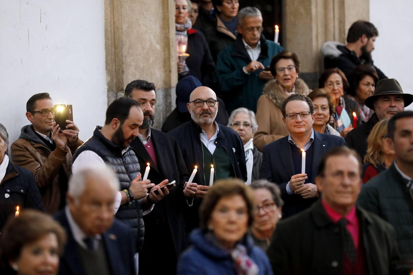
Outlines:
[[[243,107],[233,110],[228,120],[228,127],[234,129],[244,143],[248,176],[245,184],[250,185],[252,181],[259,179],[259,168],[262,162],[262,153],[252,142],[258,128],[254,112]]]

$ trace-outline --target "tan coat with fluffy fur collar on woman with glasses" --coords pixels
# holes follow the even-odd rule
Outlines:
[[[304,80],[297,78],[295,93],[307,96],[309,87]],[[265,145],[288,135],[287,127],[282,122],[281,106],[287,94],[277,84],[276,80],[269,81],[263,89],[257,103],[256,120],[258,129],[254,134],[254,146],[262,152]]]

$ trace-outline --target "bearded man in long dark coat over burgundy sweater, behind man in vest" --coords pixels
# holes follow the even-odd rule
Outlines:
[[[138,101],[144,115],[138,138],[131,142],[140,167],[150,163],[148,179],[152,182],[176,181],[174,188],[164,187],[158,191],[169,194],[143,217],[145,241],[139,254],[139,274],[152,274],[159,259],[162,265],[157,266],[158,273],[175,274],[178,256],[186,248],[183,209],[188,207],[186,199],[190,202],[193,199],[188,189],[183,188],[188,172],[176,139],[151,128],[156,105],[155,85],[134,80],[126,86],[124,96]]]

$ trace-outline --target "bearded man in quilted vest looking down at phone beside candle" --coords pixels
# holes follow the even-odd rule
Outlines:
[[[72,161],[73,173],[90,164],[106,164],[115,170],[121,189],[116,192],[114,214],[133,229],[137,252],[142,249],[144,238],[142,216],[169,193],[168,190],[160,191],[168,180],[161,181],[157,186],[150,180],[141,181],[141,167],[129,145],[138,136],[142,122],[143,113],[137,101],[128,97],[116,99],[106,110],[104,126],[96,126],[93,136],[76,150]]]

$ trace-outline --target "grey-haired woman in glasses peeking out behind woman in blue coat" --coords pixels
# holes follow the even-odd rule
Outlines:
[[[254,190],[256,205],[251,235],[255,245],[266,251],[275,226],[282,217],[281,208],[284,201],[281,199],[280,188],[277,184],[266,179],[254,181],[251,188]]]

